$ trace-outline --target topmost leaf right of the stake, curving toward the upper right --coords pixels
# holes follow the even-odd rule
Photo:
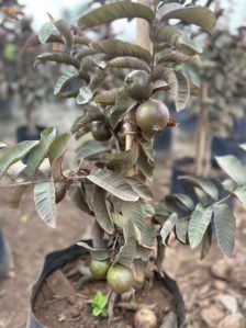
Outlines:
[[[206,7],[183,7],[179,3],[168,3],[159,10],[161,20],[176,19],[189,24],[195,24],[203,30],[212,33],[216,24],[214,13]]]

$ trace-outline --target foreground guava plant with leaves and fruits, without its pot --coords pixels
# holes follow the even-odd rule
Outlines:
[[[40,142],[20,143],[0,159],[1,176],[18,178],[9,185],[13,188],[12,207],[20,204],[29,186],[34,186],[36,211],[48,226],[55,227],[56,202],[67,193],[82,212],[94,217],[93,247],[85,241],[79,245],[91,255],[94,278],[107,279],[110,317],[115,294],[143,286],[147,261],[154,253],[155,270],[164,274],[164,250],[172,231],[191,248],[201,245],[204,258],[211,246],[213,219],[222,252],[232,256],[236,218],[226,201],[236,196],[245,203],[246,169],[231,156],[217,159],[231,181],[223,199],[219,199],[213,182],[199,177],[182,178],[199,190],[197,204],[185,194],[159,195],[160,200],[154,202],[146,183],[155,167],[154,135],[176,125],[155,94],[163,91],[165,97],[169,92],[177,111],[187,106],[190,87],[178,67],[198,60],[202,52],[189,35],[169,25],[169,20],[197,24],[209,32],[215,25],[208,8],[179,2],[154,1],[150,8],[116,1],[82,15],[76,27],[64,21],[46,23],[30,44],[56,42],[62,47],[37,56],[36,65],[67,65],[54,93],[75,98],[81,105],[81,116],[71,133],[57,136],[56,129],[48,127]],[[146,22],[152,50],[121,39],[97,42],[88,37],[89,29],[122,18]],[[119,71],[124,79],[119,78]],[[80,86],[68,90],[74,80]],[[64,157],[72,134],[79,145],[75,161],[70,160],[70,168],[65,169]],[[21,159],[26,156],[23,165]],[[96,312],[104,313],[104,301],[99,299],[101,305],[96,301]]]

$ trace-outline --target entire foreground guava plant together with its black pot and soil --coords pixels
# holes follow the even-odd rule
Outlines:
[[[163,303],[164,295],[169,296],[164,292],[161,278],[174,291],[174,282],[163,271],[170,233],[174,230],[177,239],[190,244],[191,248],[201,244],[204,258],[211,245],[213,216],[220,248],[225,256],[232,256],[236,219],[225,202],[236,196],[244,203],[246,185],[246,169],[236,158],[217,159],[233,182],[223,199],[219,197],[213,182],[198,177],[186,179],[203,194],[195,204],[185,194],[160,195],[160,201],[153,202],[146,184],[155,166],[155,133],[167,125],[176,125],[167,106],[155,99],[155,93],[160,90],[170,92],[176,109],[183,109],[190,87],[182,71],[176,70],[176,64],[177,60],[197,60],[195,55],[201,52],[188,35],[167,23],[169,19],[179,19],[208,31],[215,25],[215,16],[208,8],[168,2],[154,1],[152,8],[130,1],[104,4],[79,19],[79,34],[76,35],[64,21],[51,22],[47,29],[46,42],[54,41],[55,26],[59,31],[55,39],[65,48],[42,54],[37,61],[52,60],[71,66],[72,69],[58,79],[55,93],[75,97],[85,109],[71,128],[80,143],[76,169],[64,170],[63,167],[70,133],[57,136],[56,129],[49,127],[42,133],[40,142],[26,140],[7,149],[0,159],[0,171],[2,177],[8,176],[11,168],[15,178],[23,179],[12,184],[13,207],[19,205],[27,188],[34,186],[38,215],[48,226],[55,227],[56,203],[69,192],[71,201],[94,217],[94,229],[92,244],[80,241],[79,246],[47,257],[32,297],[40,321],[31,310],[27,327],[59,327],[60,323],[64,327],[77,327],[78,323],[80,327],[91,327],[96,320],[93,316],[100,317],[101,327],[107,327],[108,323],[111,327],[121,327],[133,325],[133,321],[135,327],[143,327],[143,324],[146,327],[183,325],[183,313],[180,315],[179,310],[177,317],[177,309],[171,304],[171,310],[165,313]],[[139,20],[137,45],[120,39],[91,42],[85,35],[87,29],[122,18]],[[115,68],[128,69],[120,88],[111,87]],[[81,88],[67,93],[66,88],[78,78]],[[25,156],[27,162],[23,165],[20,160]],[[42,166],[44,161],[48,161],[48,171]],[[85,249],[88,252],[85,253]],[[82,265],[76,261],[79,259]],[[82,287],[81,293],[74,290],[68,276],[70,282]],[[54,284],[57,279],[58,290]],[[69,292],[60,296],[59,287],[64,281]],[[52,294],[45,290],[47,282],[53,285]],[[55,289],[58,298],[59,298],[59,306],[68,310],[58,318]],[[46,301],[42,295],[46,295]],[[82,297],[88,302],[79,302]],[[155,308],[152,306],[154,297]]]

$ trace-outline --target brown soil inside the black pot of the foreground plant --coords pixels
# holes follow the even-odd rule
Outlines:
[[[83,258],[85,259],[85,258]],[[104,281],[94,281],[78,289],[81,275],[76,274],[79,265],[88,265],[86,261],[70,263],[68,268],[55,271],[42,284],[37,294],[34,312],[35,316],[47,327],[52,328],[109,328],[133,327],[134,310],[122,307],[114,308],[114,319],[111,324],[108,318],[91,315],[90,301],[98,291],[108,295],[109,287]],[[58,290],[57,290],[58,286]],[[176,304],[172,295],[166,290],[164,283],[158,280],[145,282],[144,289],[135,293],[135,304],[149,306],[158,318],[158,327],[170,312],[176,313]]]

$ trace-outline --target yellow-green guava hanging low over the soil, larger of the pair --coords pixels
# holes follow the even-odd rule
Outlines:
[[[107,281],[110,289],[116,294],[128,292],[134,283],[134,276],[131,269],[115,264],[111,267],[107,274]]]

